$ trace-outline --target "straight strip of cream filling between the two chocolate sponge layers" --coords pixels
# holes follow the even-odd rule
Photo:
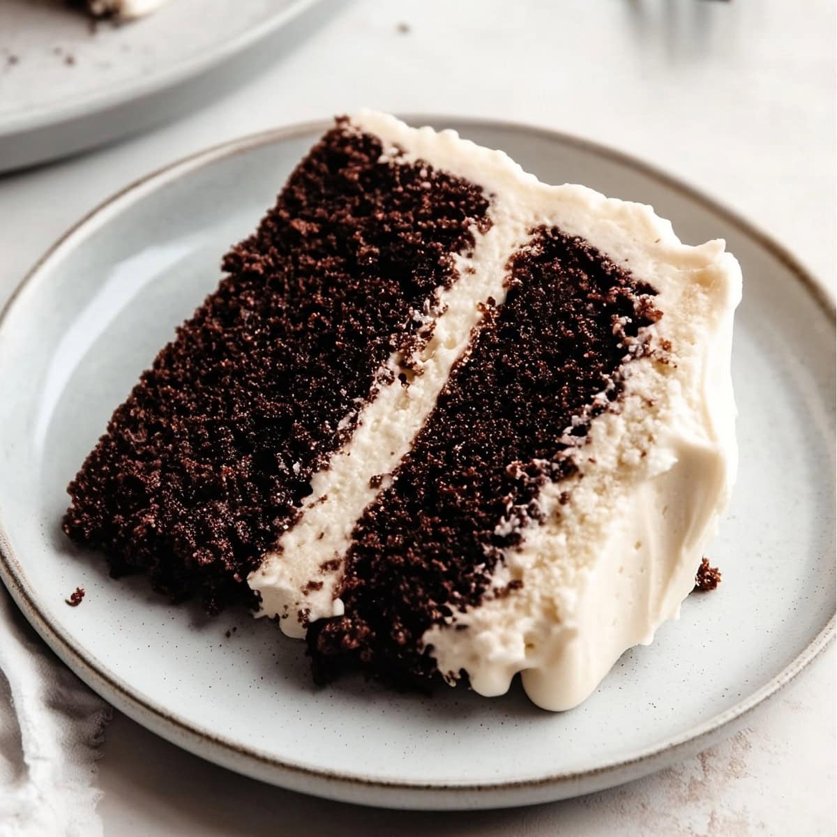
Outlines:
[[[250,574],[248,583],[261,596],[257,615],[279,617],[285,634],[301,638],[307,622],[343,613],[336,589],[357,518],[424,426],[484,306],[506,296],[503,255],[525,240],[526,227],[501,215],[502,209],[490,209],[491,229],[485,234],[475,229],[473,253],[454,257],[459,278],[439,291],[435,308],[441,313],[429,318],[432,336],[408,365],[400,356],[389,359],[390,383],[377,386],[352,439],[311,480],[298,521]]]

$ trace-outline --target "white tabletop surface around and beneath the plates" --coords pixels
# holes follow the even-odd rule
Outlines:
[[[0,177],[0,303],[70,224],[136,177],[234,136],[364,105],[495,116],[617,146],[736,208],[833,290],[834,18],[831,0],[325,0],[277,39],[264,74],[204,110]],[[105,834],[120,837],[834,834],[834,689],[832,645],[700,757],[590,797],[481,814],[285,792],[117,715],[100,813]]]

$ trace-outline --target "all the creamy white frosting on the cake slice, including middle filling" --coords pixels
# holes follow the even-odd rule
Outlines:
[[[677,616],[726,506],[737,463],[729,371],[737,262],[722,241],[681,244],[650,207],[582,186],[547,186],[501,151],[453,131],[416,130],[371,112],[352,124],[383,141],[385,158],[423,160],[483,187],[493,225],[460,259],[460,280],[439,294],[444,313],[419,358],[423,374],[408,388],[379,388],[347,446],[312,480],[300,520],[249,583],[261,593],[262,614],[342,613],[336,589],[352,528],[377,494],[370,478],[388,475],[408,451],[480,320],[478,303],[504,299],[509,256],[531,229],[557,226],[655,286],[664,316],[647,331],[658,347],[670,341],[670,362],[630,362],[619,412],[593,419],[575,454],[578,474],[542,490],[545,522],[521,531],[521,546],[504,555],[492,579],[497,589],[513,579],[522,587],[456,614],[455,625],[467,629],[454,629],[451,619],[424,642],[440,670],[465,669],[481,694],[501,694],[522,671],[539,706],[575,706],[624,650],[650,642]],[[389,363],[397,368],[399,358]],[[498,521],[501,529],[514,525],[513,517]],[[323,573],[324,562],[335,568]],[[322,586],[312,589],[311,581]],[[282,626],[304,633],[299,618]]]

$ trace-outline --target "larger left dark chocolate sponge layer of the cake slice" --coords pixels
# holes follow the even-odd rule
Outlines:
[[[388,359],[408,356],[453,255],[485,230],[478,187],[382,159],[347,121],[291,175],[229,275],[157,356],[69,486],[64,531],[115,575],[212,611],[293,521]]]

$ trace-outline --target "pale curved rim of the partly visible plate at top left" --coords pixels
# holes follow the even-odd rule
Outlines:
[[[157,95],[182,82],[194,79],[208,69],[223,64],[254,44],[258,44],[259,41],[268,38],[319,2],[320,0],[289,0],[285,8],[273,13],[262,23],[240,33],[234,39],[224,40],[217,49],[202,49],[197,54],[181,59],[157,73],[140,76],[130,82],[107,85],[101,90],[91,90],[80,97],[70,98],[66,103],[56,101],[25,110],[17,115],[12,113],[0,120],[0,140],[95,116],[127,102]]]

